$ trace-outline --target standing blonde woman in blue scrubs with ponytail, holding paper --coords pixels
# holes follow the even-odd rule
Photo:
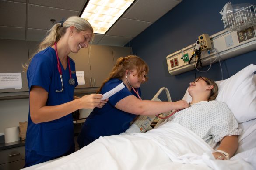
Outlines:
[[[69,17],[56,23],[39,44],[27,69],[29,114],[25,167],[74,152],[72,112],[102,107],[102,94],[78,98],[75,63],[68,57],[87,48],[93,28],[87,20]]]

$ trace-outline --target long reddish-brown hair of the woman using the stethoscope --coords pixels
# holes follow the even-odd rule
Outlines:
[[[120,57],[116,60],[116,65],[112,68],[109,77],[105,79],[105,81],[102,83],[101,87],[98,89],[96,93],[101,92],[102,87],[110,79],[123,78],[123,76],[126,74],[126,70],[137,70],[136,74],[138,74],[138,77],[141,78],[143,76],[144,71],[146,72],[147,75],[149,68],[147,66],[147,63],[136,55]],[[147,77],[145,77],[145,80],[147,81]]]

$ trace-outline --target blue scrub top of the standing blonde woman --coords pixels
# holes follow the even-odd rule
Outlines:
[[[60,63],[61,65],[61,63]],[[75,63],[70,58],[71,76],[75,80],[75,85],[70,85],[69,68],[62,69],[63,92],[55,92],[62,88],[60,74],[57,68],[56,52],[48,47],[36,54],[28,67],[27,78],[28,88],[32,85],[40,86],[48,92],[46,106],[60,105],[74,99],[74,88],[78,85],[75,73]],[[25,148],[34,150],[37,154],[44,156],[60,156],[74,146],[74,126],[72,114],[64,116],[50,122],[35,124],[28,113],[28,129],[26,135]]]

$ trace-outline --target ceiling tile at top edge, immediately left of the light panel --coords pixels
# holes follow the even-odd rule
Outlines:
[[[29,0],[29,4],[80,11],[87,0]]]

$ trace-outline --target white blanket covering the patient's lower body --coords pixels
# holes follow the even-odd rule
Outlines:
[[[147,133],[100,137],[36,170],[253,170],[244,160],[215,160],[212,148],[189,129],[166,123]]]

